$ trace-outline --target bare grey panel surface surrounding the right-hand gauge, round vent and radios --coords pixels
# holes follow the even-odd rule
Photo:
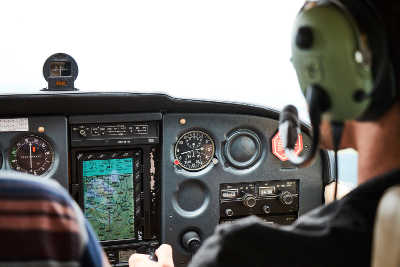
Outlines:
[[[186,119],[181,125],[179,120]],[[265,117],[233,114],[166,114],[163,118],[162,147],[162,242],[174,247],[177,266],[184,266],[190,254],[181,245],[187,230],[196,230],[204,239],[211,235],[219,221],[219,185],[221,183],[254,182],[262,180],[298,179],[300,181],[299,215],[315,208],[323,199],[323,166],[321,158],[305,169],[283,163],[271,153],[271,139],[277,132],[278,121]],[[191,129],[208,132],[215,141],[217,164],[211,163],[199,172],[188,172],[173,164],[177,138]],[[226,164],[223,144],[229,133],[249,129],[261,138],[262,155],[249,169],[239,170]],[[304,145],[310,138],[303,134]],[[307,192],[307,195],[304,194]]]

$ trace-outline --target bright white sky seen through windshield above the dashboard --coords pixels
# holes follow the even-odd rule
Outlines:
[[[46,86],[48,56],[75,58],[82,91],[163,92],[180,98],[304,110],[290,63],[303,1],[2,1],[0,93]]]

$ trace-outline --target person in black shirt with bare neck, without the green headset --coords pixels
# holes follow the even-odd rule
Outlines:
[[[335,5],[367,3],[366,0],[324,1],[328,2]],[[358,151],[358,186],[340,200],[301,216],[290,226],[266,225],[255,217],[220,225],[194,255],[189,267],[371,266],[378,202],[386,189],[400,183],[400,83],[394,85],[394,90],[390,88],[391,79],[400,78],[400,63],[397,62],[400,58],[400,4],[394,0],[375,0],[372,4],[380,14],[380,27],[385,28],[381,30],[386,31],[393,77],[388,68],[374,80],[384,77],[375,95],[371,95],[374,118],[343,121],[339,149]],[[309,41],[303,39],[301,45],[307,48]],[[321,146],[333,149],[331,124],[324,119],[320,135]],[[130,267],[173,266],[168,245],[162,245],[156,255],[158,262],[149,260],[146,255],[134,254]]]

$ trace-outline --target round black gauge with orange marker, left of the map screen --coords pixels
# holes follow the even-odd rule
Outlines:
[[[50,143],[36,135],[19,138],[10,148],[10,167],[19,172],[42,175],[52,166],[54,151]]]

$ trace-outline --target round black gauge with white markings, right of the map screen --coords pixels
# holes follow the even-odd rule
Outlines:
[[[214,140],[203,131],[181,135],[175,145],[175,164],[188,171],[207,167],[215,154]]]

